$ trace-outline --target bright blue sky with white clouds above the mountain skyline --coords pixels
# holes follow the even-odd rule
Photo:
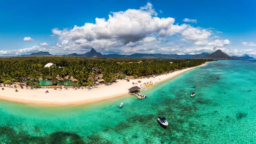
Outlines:
[[[0,56],[37,51],[256,57],[255,0],[1,0]]]

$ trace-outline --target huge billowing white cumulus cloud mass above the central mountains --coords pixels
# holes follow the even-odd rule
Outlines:
[[[184,21],[196,23],[196,19]],[[191,52],[197,53],[231,44],[228,39],[219,39],[214,28],[193,27],[175,23],[172,17],[159,17],[151,3],[139,9],[111,12],[108,18],[95,18],[95,23],[54,28],[52,33],[58,37],[55,48],[70,53],[84,53],[91,48],[103,54],[182,53],[188,47],[197,49]]]

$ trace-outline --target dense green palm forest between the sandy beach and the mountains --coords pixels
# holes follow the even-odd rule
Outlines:
[[[127,76],[149,77],[164,74],[186,67],[205,63],[203,59],[130,59],[130,58],[81,58],[65,56],[9,57],[0,58],[0,83],[26,83],[40,86],[39,79],[58,83],[56,76],[77,79],[73,85],[89,85],[99,74],[105,82],[113,78],[123,79]],[[44,67],[54,63],[55,67]],[[63,79],[61,80],[63,81]]]

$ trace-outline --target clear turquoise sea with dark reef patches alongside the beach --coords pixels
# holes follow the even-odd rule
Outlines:
[[[79,106],[0,100],[0,144],[256,143],[255,71],[256,60],[214,61],[142,91],[143,100],[126,95]]]

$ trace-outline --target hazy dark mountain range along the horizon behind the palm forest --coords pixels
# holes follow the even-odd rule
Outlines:
[[[37,53],[31,53],[28,56],[52,56],[49,52],[39,51]],[[77,56],[77,57],[88,57],[88,58],[165,58],[165,59],[254,59],[248,55],[246,56],[228,56],[226,53],[223,53],[221,50],[217,50],[214,53],[201,53],[195,55],[177,55],[177,54],[151,54],[151,53],[134,53],[131,55],[120,55],[120,54],[107,54],[102,55],[100,52],[91,49],[90,51],[84,54],[71,53],[63,56]]]

